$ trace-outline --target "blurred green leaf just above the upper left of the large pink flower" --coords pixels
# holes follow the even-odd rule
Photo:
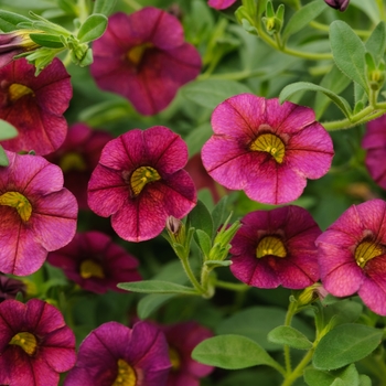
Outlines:
[[[206,79],[191,82],[182,88],[182,95],[195,104],[214,109],[225,99],[250,89],[235,81]]]

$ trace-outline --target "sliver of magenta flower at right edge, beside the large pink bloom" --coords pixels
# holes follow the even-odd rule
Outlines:
[[[386,157],[386,115],[367,124],[362,147],[367,150],[365,164],[369,175],[386,189],[386,164],[380,162]]]

